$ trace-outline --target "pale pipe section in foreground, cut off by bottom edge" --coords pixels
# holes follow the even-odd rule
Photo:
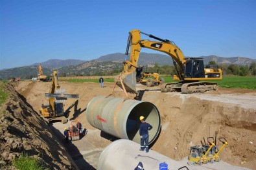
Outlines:
[[[163,146],[164,147],[164,146]],[[163,154],[150,150],[148,153],[139,151],[140,145],[130,140],[116,140],[100,154],[97,170],[135,169],[142,162],[144,169],[159,169],[159,164],[165,162],[170,170],[179,169],[187,162],[172,160]],[[192,169],[209,169],[203,166],[193,166]]]

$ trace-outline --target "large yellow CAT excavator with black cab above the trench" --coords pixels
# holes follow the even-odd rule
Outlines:
[[[141,39],[141,34],[157,39],[150,41]],[[128,92],[137,93],[136,90],[136,68],[139,60],[141,48],[150,48],[164,52],[172,58],[176,69],[175,83],[163,83],[161,92],[180,91],[182,93],[206,92],[217,90],[218,85],[215,82],[205,80],[222,80],[222,70],[205,68],[202,58],[185,58],[180,48],[174,42],[168,39],[161,39],[151,34],[146,34],[140,30],[129,32],[128,43],[126,47],[126,58],[123,62],[124,70],[116,79],[117,85]],[[126,60],[130,48],[130,60]],[[121,82],[122,81],[122,82]],[[122,83],[124,86],[122,86]]]

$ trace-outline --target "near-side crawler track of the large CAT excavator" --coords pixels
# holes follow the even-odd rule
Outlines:
[[[184,83],[181,86],[181,93],[191,94],[191,93],[204,93],[210,90],[218,90],[217,83],[214,82],[193,82],[193,83]]]

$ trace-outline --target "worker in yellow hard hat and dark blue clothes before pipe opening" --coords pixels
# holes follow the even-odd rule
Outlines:
[[[141,125],[139,126],[139,135],[141,135],[141,149],[139,151],[144,151],[146,147],[146,153],[148,153],[148,131],[150,131],[153,127],[149,123],[145,122],[145,118],[143,116],[139,117],[141,121]],[[146,146],[144,145],[146,143]]]

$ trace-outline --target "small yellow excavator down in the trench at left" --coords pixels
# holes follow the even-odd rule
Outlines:
[[[58,101],[67,100],[67,98],[79,98],[78,94],[65,94],[65,90],[60,89],[58,83],[57,71],[52,73],[52,85],[49,93],[45,93],[49,97],[49,105],[41,105],[40,114],[47,122],[61,121],[67,123],[67,118],[64,115],[64,104]],[[54,100],[56,98],[56,101]]]

